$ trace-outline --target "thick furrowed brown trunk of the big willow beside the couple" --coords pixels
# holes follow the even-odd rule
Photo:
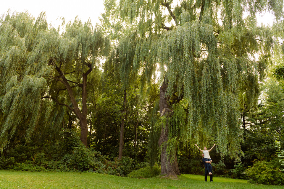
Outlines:
[[[171,117],[172,115],[172,107],[168,103],[170,97],[166,96],[167,84],[166,79],[164,78],[164,82],[160,88],[160,101],[159,101],[159,108],[161,112],[161,116]],[[161,146],[164,142],[168,140],[168,127],[169,125],[166,124],[165,127],[162,127],[162,132],[159,138],[159,146]],[[161,169],[162,175],[166,176],[177,176],[180,175],[180,170],[178,168],[177,156],[175,154],[174,161],[171,163],[170,158],[167,157],[166,154],[167,145],[163,145],[161,150]]]

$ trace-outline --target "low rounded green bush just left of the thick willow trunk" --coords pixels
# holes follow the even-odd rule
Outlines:
[[[155,165],[150,167],[149,165],[138,170],[130,172],[127,176],[133,178],[151,178],[161,174],[161,167]]]

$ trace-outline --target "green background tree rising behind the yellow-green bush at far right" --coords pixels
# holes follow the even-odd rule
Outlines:
[[[244,132],[243,162],[251,166],[257,160],[270,161],[276,156],[275,141],[283,141],[284,93],[270,78],[263,88],[259,111]]]

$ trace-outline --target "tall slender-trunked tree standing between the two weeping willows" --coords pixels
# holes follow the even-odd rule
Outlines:
[[[104,65],[104,72],[106,75],[109,73],[114,74],[114,79],[120,80],[120,88],[123,94],[123,103],[121,109],[121,121],[120,121],[120,142],[119,142],[119,155],[118,158],[122,157],[123,145],[124,145],[124,126],[126,122],[127,115],[127,96],[131,93],[129,89],[131,86],[136,85],[138,73],[131,72],[125,67],[131,67],[133,64],[133,57],[135,53],[135,48],[122,49],[122,45],[131,45],[135,41],[135,33],[130,34],[128,40],[119,41],[125,37],[123,34],[131,33],[133,30],[131,22],[123,21],[119,14],[119,7],[115,0],[104,1],[105,12],[101,14],[101,25],[104,27],[106,33],[111,37],[113,44],[113,52],[109,56],[108,60]],[[126,35],[128,37],[128,35]],[[124,62],[121,64],[121,62]],[[136,83],[136,84],[134,84]],[[138,119],[139,115],[137,116]],[[137,121],[137,124],[139,120]],[[135,126],[136,128],[137,126]]]

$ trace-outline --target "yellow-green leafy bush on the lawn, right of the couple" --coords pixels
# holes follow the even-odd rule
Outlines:
[[[279,170],[278,161],[258,161],[245,173],[250,182],[259,184],[284,185],[284,174]]]

